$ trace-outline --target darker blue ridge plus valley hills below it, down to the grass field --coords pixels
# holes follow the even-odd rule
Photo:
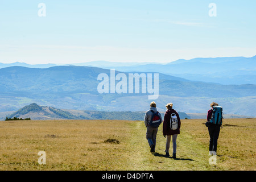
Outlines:
[[[33,102],[68,110],[144,112],[149,109],[148,94],[98,93],[100,73],[110,76],[109,69],[96,67],[2,68],[0,112],[16,111]],[[129,72],[124,74],[128,76]],[[210,103],[215,101],[224,107],[225,114],[255,117],[256,85],[221,85],[159,73],[159,98],[155,101],[162,112],[172,102],[179,112],[207,113]]]

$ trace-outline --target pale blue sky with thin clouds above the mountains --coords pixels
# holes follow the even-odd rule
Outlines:
[[[0,63],[252,57],[255,10],[251,0],[1,0]]]

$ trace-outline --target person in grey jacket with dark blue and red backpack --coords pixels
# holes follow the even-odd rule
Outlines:
[[[161,114],[156,109],[155,102],[151,102],[150,110],[148,110],[144,117],[144,123],[147,127],[146,138],[150,146],[150,152],[155,152],[156,134],[158,127],[163,122]]]

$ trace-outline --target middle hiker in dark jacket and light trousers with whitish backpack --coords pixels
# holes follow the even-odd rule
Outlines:
[[[166,157],[169,157],[169,148],[170,148],[170,142],[172,137],[172,158],[176,159],[176,140],[177,135],[180,134],[180,117],[179,114],[172,109],[173,104],[169,103],[166,105],[167,111],[166,114],[164,114],[164,121],[163,121],[163,135],[164,138],[166,138]],[[172,127],[174,125],[171,125],[171,118],[172,121],[176,120],[176,128]],[[173,122],[174,124],[175,122]]]

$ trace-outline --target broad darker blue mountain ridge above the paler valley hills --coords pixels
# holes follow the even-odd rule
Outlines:
[[[81,93],[102,96],[97,90],[97,86],[101,82],[97,80],[100,73],[105,73],[110,77],[109,69],[94,67],[2,68],[0,69],[0,93],[3,96],[16,97],[63,97]],[[116,71],[115,73],[121,72]],[[129,73],[135,72],[126,72],[127,78]],[[141,72],[136,73],[140,74]],[[221,85],[189,81],[159,73],[159,94],[175,97],[248,97],[256,95],[256,85]],[[136,94],[107,94],[107,96],[136,96]]]

